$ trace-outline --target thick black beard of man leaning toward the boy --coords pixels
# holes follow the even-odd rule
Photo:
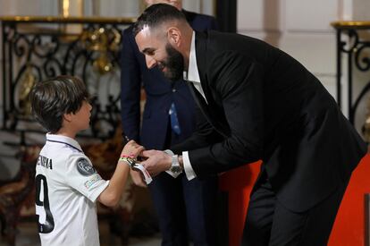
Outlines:
[[[165,51],[167,52],[167,59],[160,64],[160,69],[164,67],[167,71],[164,72],[164,77],[170,81],[179,81],[183,77],[182,73],[184,71],[184,57],[179,51],[173,48],[169,43],[165,46]]]

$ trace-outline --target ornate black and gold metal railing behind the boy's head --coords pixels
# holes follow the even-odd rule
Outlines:
[[[29,115],[29,89],[59,74],[80,77],[93,96],[91,128],[105,139],[120,122],[122,30],[132,18],[0,17],[3,54],[3,130],[40,131]],[[36,125],[36,124],[35,124]]]

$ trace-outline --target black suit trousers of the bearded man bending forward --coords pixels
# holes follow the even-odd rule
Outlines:
[[[326,245],[348,181],[315,207],[296,213],[279,202],[266,175],[262,176],[250,197],[241,245]]]

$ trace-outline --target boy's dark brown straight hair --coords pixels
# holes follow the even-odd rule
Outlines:
[[[47,131],[55,133],[62,128],[63,115],[79,111],[88,90],[83,81],[72,76],[58,76],[39,81],[29,92],[31,112]]]

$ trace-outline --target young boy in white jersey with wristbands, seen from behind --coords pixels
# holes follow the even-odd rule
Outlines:
[[[88,129],[91,105],[82,81],[59,76],[38,82],[30,92],[32,114],[46,128],[36,166],[36,214],[42,245],[99,245],[98,199],[117,205],[132,160],[143,147],[130,140],[110,181],[101,178],[75,140]]]

